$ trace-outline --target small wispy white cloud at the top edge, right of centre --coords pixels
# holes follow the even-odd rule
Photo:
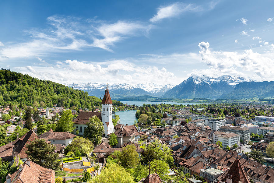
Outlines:
[[[213,4],[214,5],[214,4]],[[215,5],[214,5],[215,7]],[[202,7],[197,6],[195,4],[184,4],[184,3],[174,3],[169,6],[162,6],[158,8],[157,14],[154,15],[151,19],[149,19],[150,22],[157,22],[164,18],[169,17],[175,17],[180,15],[183,12],[195,12],[195,11],[201,11]]]

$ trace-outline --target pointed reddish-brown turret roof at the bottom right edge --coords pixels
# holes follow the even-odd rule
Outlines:
[[[229,171],[227,172],[223,180],[226,180],[227,178],[232,179],[232,183],[238,183],[240,181],[242,183],[250,183],[238,156],[234,163],[231,165]]]

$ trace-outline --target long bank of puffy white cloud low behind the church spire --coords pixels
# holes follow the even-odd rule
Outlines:
[[[111,60],[103,63],[65,60],[49,66],[15,67],[16,70],[39,79],[49,79],[57,83],[97,82],[178,84],[178,78],[166,68],[139,66],[127,60]],[[68,77],[69,76],[69,77]],[[79,81],[80,78],[80,81]],[[136,79],[138,78],[138,79]]]

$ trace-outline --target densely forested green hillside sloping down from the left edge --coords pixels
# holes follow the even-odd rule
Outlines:
[[[100,106],[101,100],[89,96],[87,92],[62,84],[1,69],[0,105],[10,103],[20,108],[26,106],[52,107],[53,104],[57,104],[57,106],[66,108],[76,106],[91,110],[93,105]]]

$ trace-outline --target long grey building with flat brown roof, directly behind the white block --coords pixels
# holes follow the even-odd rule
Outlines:
[[[243,140],[244,143],[248,143],[250,140],[250,130],[246,127],[240,126],[221,126],[219,128],[220,132],[236,133],[240,135],[240,140]]]

